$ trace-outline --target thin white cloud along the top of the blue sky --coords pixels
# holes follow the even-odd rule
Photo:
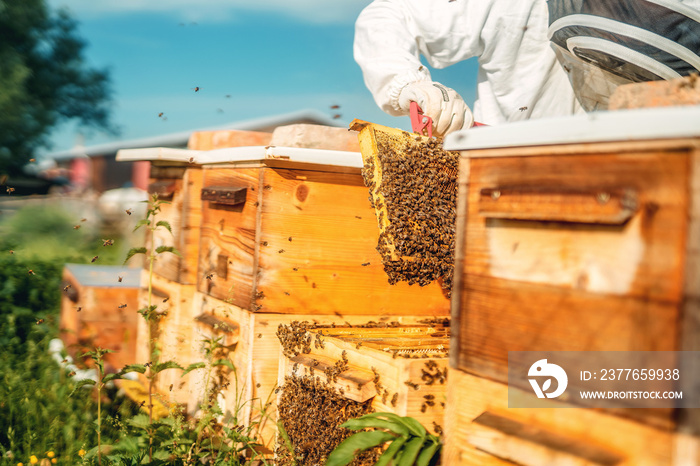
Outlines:
[[[160,13],[179,21],[220,22],[237,12],[275,12],[309,23],[351,23],[371,0],[48,0],[78,19],[114,14]]]

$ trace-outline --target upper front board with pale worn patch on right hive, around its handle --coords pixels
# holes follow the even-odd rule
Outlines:
[[[673,154],[472,160],[465,273],[677,302],[682,293],[688,202],[687,188],[678,181],[686,177],[688,158]],[[477,214],[484,189],[508,187],[591,193],[633,190],[638,213],[620,226]]]

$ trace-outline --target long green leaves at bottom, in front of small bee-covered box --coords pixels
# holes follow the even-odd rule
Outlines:
[[[387,444],[375,466],[428,466],[439,461],[440,438],[429,434],[412,417],[393,413],[371,413],[341,424],[359,430],[345,439],[328,456],[326,466],[345,466],[355,455],[369,448]],[[374,430],[366,430],[374,429]]]

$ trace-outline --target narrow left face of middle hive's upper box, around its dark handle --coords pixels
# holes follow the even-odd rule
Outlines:
[[[245,202],[228,206],[204,202],[197,289],[251,309],[255,251],[260,241],[256,218],[262,194],[260,169],[205,168],[205,186],[245,187]],[[222,267],[222,263],[226,267]]]

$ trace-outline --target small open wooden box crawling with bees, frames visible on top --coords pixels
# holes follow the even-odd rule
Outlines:
[[[411,416],[429,432],[442,433],[446,319],[284,330],[278,333],[283,347],[279,416],[303,464],[323,462],[350,434],[340,424],[367,412]],[[288,457],[284,447],[278,454]]]

